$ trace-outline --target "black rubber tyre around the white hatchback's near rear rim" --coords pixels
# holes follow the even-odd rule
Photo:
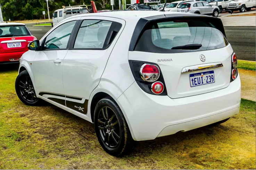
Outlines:
[[[109,148],[105,142],[102,140],[100,134],[99,134],[99,130],[98,130],[98,114],[99,111],[102,107],[104,106],[108,106],[110,108],[112,108],[112,110],[116,113],[117,119],[119,121],[119,125],[121,126],[121,136],[120,136],[120,142],[117,145],[117,147],[115,148]],[[110,98],[103,98],[101,99],[94,110],[94,128],[95,128],[95,132],[98,138],[98,141],[101,145],[101,147],[110,155],[113,156],[118,156],[121,155],[122,152],[125,149],[125,143],[127,140],[127,130],[126,130],[126,122],[124,120],[124,116],[123,113],[121,111],[121,109],[119,108],[119,106],[116,104],[116,102],[114,102],[112,99]]]

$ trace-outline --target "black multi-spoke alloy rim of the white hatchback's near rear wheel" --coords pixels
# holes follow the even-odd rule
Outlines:
[[[98,128],[101,140],[109,148],[115,148],[120,142],[121,127],[112,108],[104,106],[98,114]]]

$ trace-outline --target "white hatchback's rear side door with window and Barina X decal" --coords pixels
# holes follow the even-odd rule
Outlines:
[[[82,17],[63,62],[66,106],[87,113],[91,92],[97,87],[125,21],[110,17]]]

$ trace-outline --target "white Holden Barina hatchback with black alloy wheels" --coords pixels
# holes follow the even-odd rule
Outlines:
[[[115,11],[67,18],[20,59],[15,88],[95,125],[102,148],[222,123],[238,114],[237,57],[218,18]]]

